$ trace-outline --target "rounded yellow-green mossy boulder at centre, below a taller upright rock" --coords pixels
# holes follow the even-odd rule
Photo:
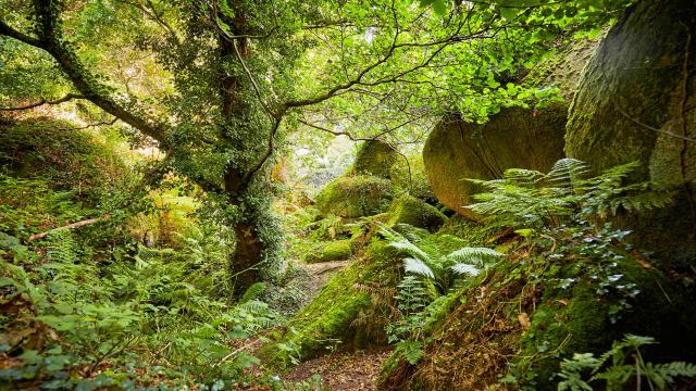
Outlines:
[[[328,184],[315,198],[324,214],[340,217],[371,216],[384,212],[394,198],[394,187],[370,175],[344,176]]]

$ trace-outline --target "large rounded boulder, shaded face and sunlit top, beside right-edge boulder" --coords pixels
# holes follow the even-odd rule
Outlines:
[[[563,154],[570,96],[597,42],[579,41],[552,61],[540,64],[523,80],[529,87],[558,87],[560,100],[534,110],[506,108],[484,124],[459,116],[443,119],[423,149],[427,178],[437,199],[459,214],[478,189],[464,178],[494,179],[512,167],[547,172]]]

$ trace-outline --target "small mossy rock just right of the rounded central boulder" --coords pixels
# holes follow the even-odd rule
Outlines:
[[[435,206],[407,194],[394,200],[387,213],[389,214],[388,224],[390,226],[409,224],[414,227],[426,228],[430,231],[437,230],[447,220],[447,216]]]

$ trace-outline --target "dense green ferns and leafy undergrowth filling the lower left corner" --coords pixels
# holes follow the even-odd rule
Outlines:
[[[17,182],[51,193],[38,179],[5,177],[4,185]],[[74,218],[48,209],[52,200],[33,201],[50,218]],[[72,195],[66,202],[59,213],[85,213]],[[229,300],[221,230],[190,219],[187,226],[175,232],[177,249],[148,248],[112,230],[101,232],[114,245],[108,250],[79,229],[29,245],[1,232],[0,305],[9,312],[0,316],[0,379],[71,389],[238,382],[258,360],[237,346],[282,317],[257,300],[261,285],[244,302]]]

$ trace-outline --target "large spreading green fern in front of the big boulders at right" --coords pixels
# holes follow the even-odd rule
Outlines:
[[[638,162],[627,163],[592,178],[586,178],[588,165],[574,159],[556,162],[547,174],[511,168],[502,179],[467,179],[484,190],[467,207],[497,226],[540,228],[622,211],[643,213],[671,202],[676,192],[670,186],[625,184],[638,167]]]

